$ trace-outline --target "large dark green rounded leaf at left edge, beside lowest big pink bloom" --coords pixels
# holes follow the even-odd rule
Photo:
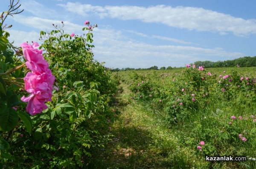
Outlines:
[[[3,132],[12,130],[18,123],[19,116],[12,108],[7,108],[0,115],[0,130]]]

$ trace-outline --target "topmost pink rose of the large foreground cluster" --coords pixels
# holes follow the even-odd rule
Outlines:
[[[22,48],[24,58],[26,59],[26,67],[32,71],[43,73],[48,68],[48,63],[42,55],[43,50],[38,50],[38,43],[33,42],[33,45],[29,45],[26,42],[22,43],[20,47]]]

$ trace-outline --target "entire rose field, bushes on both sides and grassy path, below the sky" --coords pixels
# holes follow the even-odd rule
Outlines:
[[[0,14],[0,169],[256,168],[256,68],[111,73],[87,20],[13,46],[19,6]]]

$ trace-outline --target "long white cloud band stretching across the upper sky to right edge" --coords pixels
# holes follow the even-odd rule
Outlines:
[[[81,3],[58,4],[65,10],[87,16],[98,15],[120,20],[141,20],[145,23],[162,23],[170,27],[196,31],[211,31],[236,36],[256,34],[256,20],[245,20],[204,8],[158,5],[139,6],[92,6]]]

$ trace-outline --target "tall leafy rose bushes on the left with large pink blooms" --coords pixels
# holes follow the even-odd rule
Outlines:
[[[97,25],[85,21],[83,37],[53,24],[41,46],[15,47],[3,22],[17,6],[0,24],[0,168],[86,166],[93,147],[111,140],[116,93],[111,72],[93,59]]]

